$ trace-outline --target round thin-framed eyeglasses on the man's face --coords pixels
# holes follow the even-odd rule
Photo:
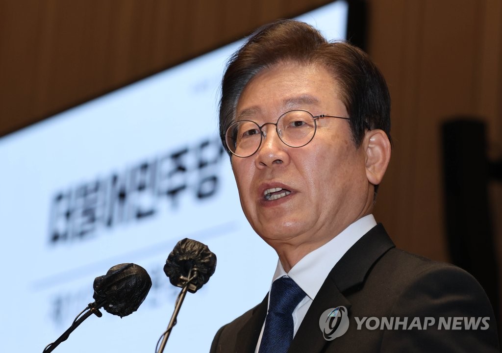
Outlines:
[[[267,137],[263,127],[268,124],[276,126],[277,135],[289,147],[303,147],[314,138],[317,130],[316,121],[321,117],[337,117],[350,120],[348,117],[333,115],[314,116],[306,110],[291,110],[281,116],[277,123],[265,123],[262,126],[250,120],[241,120],[228,127],[225,141],[228,150],[237,157],[254,155]]]

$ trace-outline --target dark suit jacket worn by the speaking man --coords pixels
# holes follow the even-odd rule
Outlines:
[[[267,315],[268,297],[221,327],[211,353],[253,353]],[[321,314],[345,306],[349,327],[327,341]],[[434,317],[427,329],[357,329],[357,317]],[[439,318],[489,317],[477,330],[438,329]],[[453,320],[453,319],[452,319]],[[430,322],[430,321],[429,321]],[[375,321],[371,321],[370,327]],[[453,327],[453,324],[452,326]],[[395,248],[382,224],[368,231],[333,267],[303,319],[289,352],[498,352],[493,310],[481,286],[467,272]]]

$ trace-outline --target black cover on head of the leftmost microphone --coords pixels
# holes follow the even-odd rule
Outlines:
[[[94,279],[94,295],[97,303],[113,315],[127,316],[145,300],[152,280],[147,271],[136,264],[115,265],[106,275]]]

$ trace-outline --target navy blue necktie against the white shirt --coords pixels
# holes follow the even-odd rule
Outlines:
[[[293,310],[305,292],[289,277],[272,283],[269,312],[265,319],[259,353],[286,353],[293,340]]]

